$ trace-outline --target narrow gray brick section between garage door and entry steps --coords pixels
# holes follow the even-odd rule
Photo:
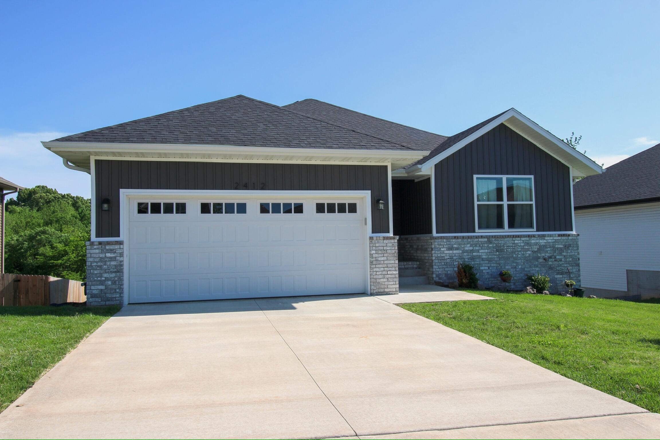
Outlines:
[[[370,294],[399,293],[397,236],[369,237]]]

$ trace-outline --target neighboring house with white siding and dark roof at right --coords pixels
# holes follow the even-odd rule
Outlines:
[[[660,298],[660,144],[574,185],[582,286],[603,298]]]

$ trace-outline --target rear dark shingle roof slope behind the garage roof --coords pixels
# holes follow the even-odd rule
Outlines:
[[[447,139],[446,136],[431,133],[430,131],[387,121],[380,117],[366,115],[359,111],[348,110],[347,108],[315,99],[296,101],[282,107],[360,133],[397,142],[398,144],[409,146],[414,150],[429,151]]]

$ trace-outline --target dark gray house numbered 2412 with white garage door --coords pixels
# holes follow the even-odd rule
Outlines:
[[[43,144],[91,175],[90,304],[395,294],[399,260],[556,284],[579,278],[572,179],[602,171],[515,109],[446,137],[242,95]]]

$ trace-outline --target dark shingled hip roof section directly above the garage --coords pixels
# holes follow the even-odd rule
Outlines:
[[[243,95],[54,141],[414,150],[378,135],[360,133]]]

